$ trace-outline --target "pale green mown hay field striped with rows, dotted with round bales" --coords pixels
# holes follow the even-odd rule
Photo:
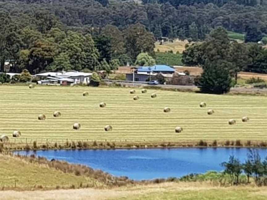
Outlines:
[[[267,98],[105,87],[0,86],[0,135],[13,142],[267,140]],[[88,96],[83,96],[87,91]],[[156,98],[150,95],[156,93]],[[133,100],[135,95],[138,100]],[[100,102],[106,107],[101,108]],[[200,102],[207,106],[201,108]],[[171,111],[164,113],[164,107]],[[213,115],[207,110],[213,109]],[[53,117],[54,111],[61,116]],[[38,115],[46,115],[38,120]],[[248,116],[248,122],[242,122]],[[228,120],[236,124],[229,125]],[[73,129],[80,123],[79,130]],[[112,125],[112,131],[104,131]],[[183,128],[176,133],[175,128]],[[12,138],[13,131],[21,137]]]

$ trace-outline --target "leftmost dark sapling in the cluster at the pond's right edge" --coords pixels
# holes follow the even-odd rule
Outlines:
[[[224,173],[227,173],[231,176],[231,181],[236,184],[239,183],[239,176],[242,173],[242,164],[239,159],[234,156],[230,156],[228,162],[221,163],[224,167]]]

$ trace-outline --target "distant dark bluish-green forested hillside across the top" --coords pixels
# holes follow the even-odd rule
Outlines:
[[[217,26],[267,34],[265,0],[0,0],[0,9],[25,25],[46,10],[68,27],[110,24],[122,30],[142,23],[156,37],[202,40]]]

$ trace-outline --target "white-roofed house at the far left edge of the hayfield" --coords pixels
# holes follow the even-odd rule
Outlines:
[[[71,71],[71,72],[46,72],[46,73],[40,73],[36,74],[36,77],[40,77],[41,80],[39,81],[39,84],[55,84],[57,82],[60,85],[75,85],[79,83],[88,84],[90,83],[90,77],[92,73],[83,73],[83,72],[77,72],[77,71]]]

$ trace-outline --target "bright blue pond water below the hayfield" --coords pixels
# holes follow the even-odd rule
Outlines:
[[[266,149],[258,149],[261,158]],[[131,179],[181,177],[189,173],[221,171],[220,163],[234,155],[242,162],[248,148],[174,148],[174,149],[116,149],[116,150],[45,150],[20,151],[20,155],[44,156],[66,160],[101,169],[115,176]]]

